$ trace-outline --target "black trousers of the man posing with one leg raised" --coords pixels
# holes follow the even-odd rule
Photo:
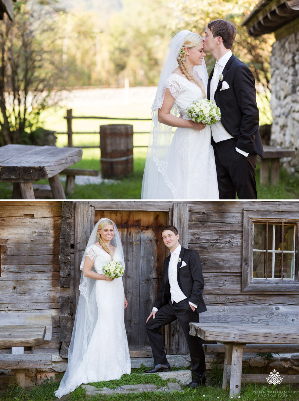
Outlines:
[[[181,324],[190,350],[191,366],[195,374],[193,381],[200,382],[201,380],[205,380],[205,354],[203,352],[201,338],[190,336],[189,334],[189,323],[198,323],[199,316],[197,312],[193,312],[190,308],[187,299],[178,303],[173,302],[173,304],[169,301],[168,304],[162,306],[157,311],[155,318],[150,318],[146,324],[151,350],[153,351],[154,363],[155,365],[158,363],[167,363],[163,338],[159,329],[176,319]]]

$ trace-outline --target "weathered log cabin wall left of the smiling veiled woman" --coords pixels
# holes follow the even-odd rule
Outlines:
[[[1,202],[1,311],[52,314],[52,339],[33,353],[60,348],[61,212],[61,202]]]

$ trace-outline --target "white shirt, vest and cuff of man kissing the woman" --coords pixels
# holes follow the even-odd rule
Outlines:
[[[232,55],[233,55],[233,53],[231,53],[231,50],[229,50],[215,64],[213,77],[210,82],[210,99],[211,99],[211,101],[213,101],[213,103],[216,103],[215,99],[214,99],[214,95],[215,95],[215,91],[218,86],[219,75],[222,74],[225,65],[227,64],[227,62],[229,61],[229,59],[231,58]],[[216,143],[233,138],[233,136],[225,130],[225,128],[223,127],[220,120],[216,121],[214,124],[211,124],[211,130],[212,130],[213,140]],[[244,152],[243,150],[238,149],[238,148],[236,148],[236,151],[243,154],[246,157],[249,155],[249,153]]]

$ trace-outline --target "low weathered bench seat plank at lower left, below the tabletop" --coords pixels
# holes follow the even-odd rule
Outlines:
[[[48,369],[52,368],[51,354],[1,355],[1,369]]]

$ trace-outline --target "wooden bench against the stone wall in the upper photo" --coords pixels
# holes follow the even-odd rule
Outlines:
[[[279,183],[279,160],[283,157],[294,157],[295,150],[280,149],[275,146],[264,146],[265,157],[261,158],[261,170],[259,183],[261,185],[269,183],[270,163],[271,163],[271,185]]]

